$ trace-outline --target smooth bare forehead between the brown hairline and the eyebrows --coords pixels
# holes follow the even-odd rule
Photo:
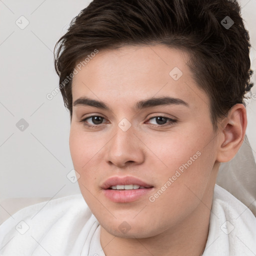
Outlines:
[[[194,108],[208,104],[186,64],[189,59],[186,51],[164,45],[99,50],[73,77],[73,101],[88,96],[128,103],[168,95],[190,102]]]

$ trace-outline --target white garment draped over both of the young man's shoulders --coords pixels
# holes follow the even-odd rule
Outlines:
[[[25,207],[0,225],[2,256],[105,256],[100,225],[81,194]],[[255,256],[256,218],[215,185],[203,256]]]

